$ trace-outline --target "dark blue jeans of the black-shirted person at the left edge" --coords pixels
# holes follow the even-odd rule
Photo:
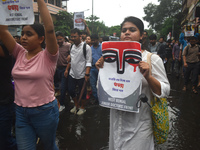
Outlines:
[[[15,139],[11,135],[15,104],[0,105],[0,149],[17,150]]]

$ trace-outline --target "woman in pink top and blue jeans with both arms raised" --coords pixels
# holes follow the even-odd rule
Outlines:
[[[15,42],[7,26],[0,26],[0,39],[16,58],[12,75],[18,149],[36,149],[39,137],[45,150],[58,150],[55,137],[59,111],[53,89],[58,46],[46,4],[44,0],[37,0],[37,3],[45,29],[41,24],[24,26],[21,46]],[[44,40],[45,50],[42,49]]]

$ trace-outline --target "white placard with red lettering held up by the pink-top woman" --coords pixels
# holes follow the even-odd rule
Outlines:
[[[1,25],[33,24],[33,1],[0,0],[0,14]]]

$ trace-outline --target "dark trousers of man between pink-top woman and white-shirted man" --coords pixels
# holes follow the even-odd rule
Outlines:
[[[67,92],[67,78],[64,76],[66,67],[57,67],[56,72],[54,75],[54,86],[55,89],[60,89],[60,105],[64,105],[64,100],[65,100],[65,95]],[[59,88],[59,83],[60,83],[60,88]]]

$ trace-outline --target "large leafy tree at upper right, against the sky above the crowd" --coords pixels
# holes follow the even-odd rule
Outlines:
[[[169,32],[177,37],[180,33],[182,20],[182,0],[158,0],[159,5],[149,3],[144,7],[143,19],[149,22],[149,27],[158,34],[166,36]]]

